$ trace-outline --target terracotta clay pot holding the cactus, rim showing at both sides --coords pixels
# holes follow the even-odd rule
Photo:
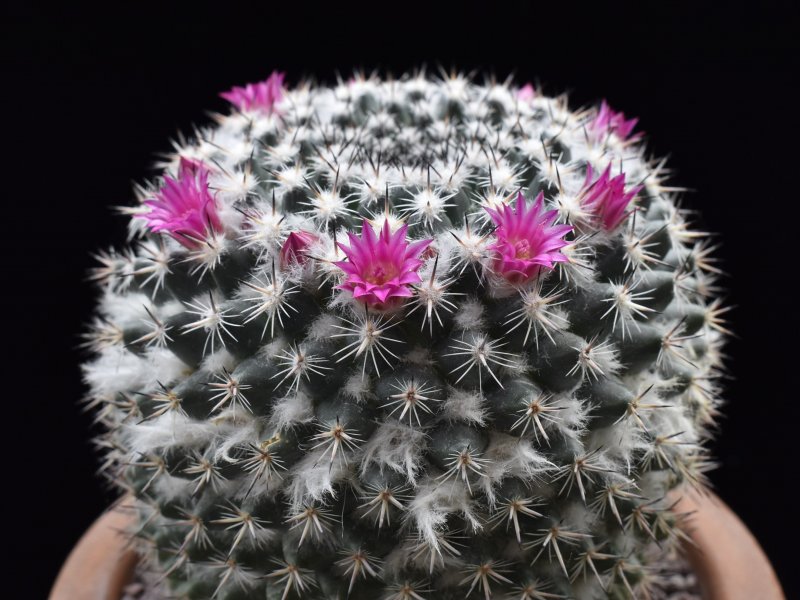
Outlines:
[[[705,600],[785,600],[763,550],[739,518],[716,496],[684,495],[677,505],[693,512],[686,554]],[[136,555],[120,531],[132,515],[112,510],[94,522],[72,550],[50,600],[119,600]]]

